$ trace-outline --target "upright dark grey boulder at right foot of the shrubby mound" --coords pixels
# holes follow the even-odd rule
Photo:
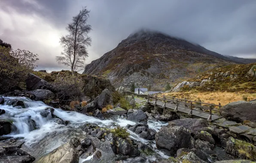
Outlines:
[[[104,91],[101,92],[100,96],[96,99],[98,108],[104,108],[105,106],[113,105],[113,97],[111,92],[106,88]]]

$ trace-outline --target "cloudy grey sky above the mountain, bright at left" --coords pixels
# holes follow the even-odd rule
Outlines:
[[[256,58],[256,0],[0,0],[0,39],[39,55],[38,69],[61,70],[59,38],[82,6],[91,10],[90,63],[147,28],[223,55]]]

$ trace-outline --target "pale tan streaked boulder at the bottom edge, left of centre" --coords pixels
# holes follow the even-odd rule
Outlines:
[[[68,142],[40,157],[35,163],[78,163],[78,161],[79,155],[75,146]]]

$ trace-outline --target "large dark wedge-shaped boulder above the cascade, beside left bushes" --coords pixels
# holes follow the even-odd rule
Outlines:
[[[54,85],[51,85],[50,83],[32,73],[27,75],[26,85],[27,90],[46,89],[52,91],[53,93],[58,91],[58,88],[56,88]]]

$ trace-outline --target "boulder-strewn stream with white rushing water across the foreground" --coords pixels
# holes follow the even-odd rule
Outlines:
[[[174,121],[164,122],[159,120],[166,120],[168,114],[159,117],[154,110],[112,109],[118,114],[102,120],[27,97],[3,97],[0,108],[0,163],[232,163],[226,160],[237,159],[250,163],[256,159],[254,145],[227,134],[225,126],[202,119],[174,115]],[[112,130],[117,127],[125,127],[129,138],[116,136]]]

